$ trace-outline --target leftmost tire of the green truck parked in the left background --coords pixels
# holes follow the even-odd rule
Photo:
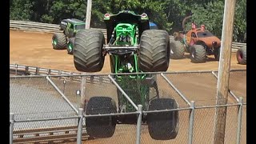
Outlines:
[[[66,49],[66,35],[63,33],[54,33],[52,38],[52,45],[55,50]]]

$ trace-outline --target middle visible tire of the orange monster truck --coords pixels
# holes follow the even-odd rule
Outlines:
[[[194,63],[206,62],[206,49],[202,45],[191,46],[190,59]]]

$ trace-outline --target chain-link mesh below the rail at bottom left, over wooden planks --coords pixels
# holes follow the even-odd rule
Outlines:
[[[14,143],[50,142],[51,140],[57,141],[63,138],[76,138],[78,119],[70,118],[38,122],[16,122],[14,123],[14,126],[15,125],[22,127],[21,130],[17,129],[14,131]],[[30,129],[27,129],[28,126],[30,126]],[[85,134],[86,132],[83,130],[82,133]]]

